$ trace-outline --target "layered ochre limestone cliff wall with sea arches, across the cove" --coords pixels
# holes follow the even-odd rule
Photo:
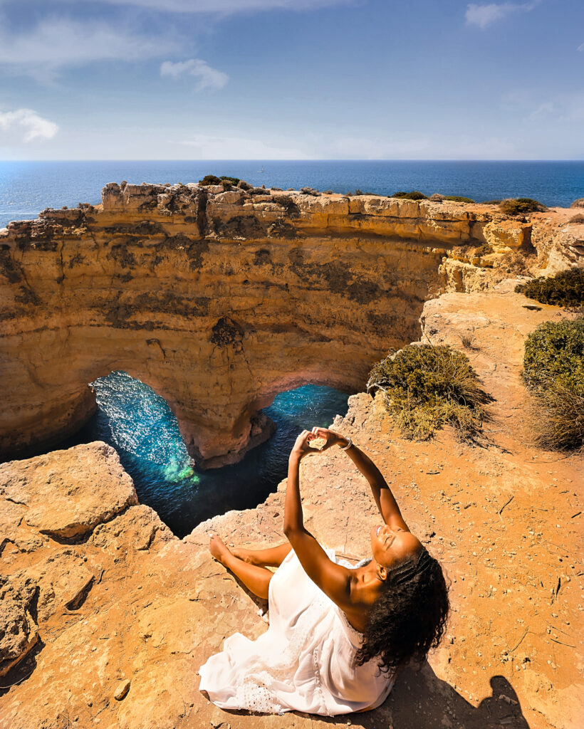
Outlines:
[[[4,458],[78,429],[87,383],[121,369],[168,401],[200,464],[234,462],[279,391],[360,389],[416,339],[453,248],[533,237],[458,203],[124,183],[102,199],[0,231]]]

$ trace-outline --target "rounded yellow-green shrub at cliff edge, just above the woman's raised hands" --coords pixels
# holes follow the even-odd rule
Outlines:
[[[407,438],[427,440],[451,424],[464,440],[480,431],[491,397],[466,354],[449,346],[408,345],[371,370],[367,391],[384,392],[386,410]]]

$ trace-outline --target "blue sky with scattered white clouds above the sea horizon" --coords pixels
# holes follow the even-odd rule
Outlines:
[[[0,0],[0,159],[583,158],[583,0]]]

